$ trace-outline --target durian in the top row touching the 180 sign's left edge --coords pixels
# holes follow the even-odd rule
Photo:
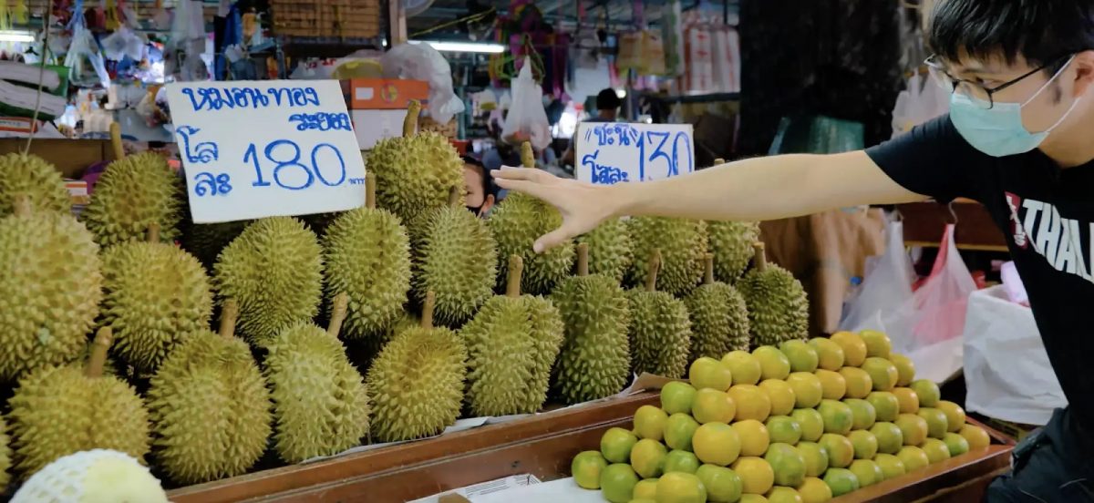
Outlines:
[[[171,243],[178,236],[182,191],[182,178],[163,156],[153,152],[129,155],[106,167],[82,218],[104,247],[143,241],[152,224],[160,226],[160,239]]]

